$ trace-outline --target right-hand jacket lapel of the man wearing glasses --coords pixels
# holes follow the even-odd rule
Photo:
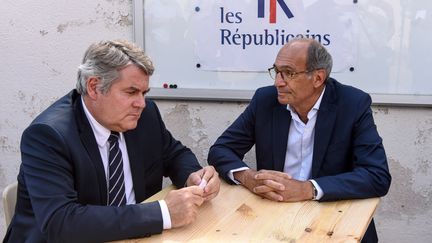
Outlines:
[[[318,176],[325,152],[329,145],[336,121],[336,91],[333,81],[328,80],[315,124],[312,178]]]

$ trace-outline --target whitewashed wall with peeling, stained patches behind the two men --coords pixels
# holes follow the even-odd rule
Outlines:
[[[75,86],[76,69],[87,46],[101,39],[132,40],[132,29],[131,0],[1,1],[1,190],[16,179],[23,129]],[[203,164],[209,146],[247,105],[157,103],[167,127]],[[381,242],[432,242],[432,108],[375,106],[373,110],[393,175],[390,192],[375,217]],[[253,163],[253,153],[246,159]]]

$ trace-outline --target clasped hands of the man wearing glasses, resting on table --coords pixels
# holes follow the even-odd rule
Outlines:
[[[298,202],[313,197],[310,181],[298,181],[284,172],[247,169],[234,172],[234,178],[251,192],[278,202]]]

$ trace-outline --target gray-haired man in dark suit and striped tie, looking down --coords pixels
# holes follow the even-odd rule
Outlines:
[[[217,195],[218,173],[200,166],[145,98],[153,70],[127,41],[88,48],[76,90],[22,135],[17,204],[4,242],[149,236],[193,222],[199,206]],[[140,204],[161,190],[163,176],[181,189]]]

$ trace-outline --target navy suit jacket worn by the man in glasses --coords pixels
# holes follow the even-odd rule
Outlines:
[[[327,80],[315,125],[312,159],[312,179],[324,192],[320,201],[387,193],[391,176],[370,105],[368,94]],[[258,170],[283,171],[290,122],[291,114],[278,102],[276,88],[258,89],[246,110],[210,148],[209,164],[232,183],[228,171],[247,166],[243,157],[255,145]],[[375,228],[371,231],[368,234],[376,238]]]

